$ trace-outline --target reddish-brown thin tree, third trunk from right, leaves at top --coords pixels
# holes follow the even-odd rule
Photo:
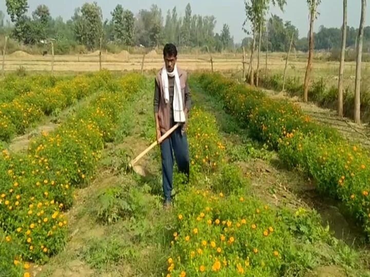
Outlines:
[[[309,14],[310,14],[310,27],[309,27],[309,46],[308,46],[308,62],[305,75],[304,83],[304,101],[308,101],[308,85],[310,81],[310,73],[312,70],[312,60],[313,60],[313,23],[317,18],[317,8],[320,5],[321,0],[306,0],[308,4]]]

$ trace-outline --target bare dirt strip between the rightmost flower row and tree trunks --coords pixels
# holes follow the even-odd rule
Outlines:
[[[290,97],[286,93],[274,90],[263,90],[271,98],[284,99],[299,105],[306,114],[310,115],[317,122],[336,128],[347,140],[370,148],[370,129],[368,124],[357,125],[349,118],[340,118],[334,110],[318,107],[314,103],[304,103],[299,97]]]

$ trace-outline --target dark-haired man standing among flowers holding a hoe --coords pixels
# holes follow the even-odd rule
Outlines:
[[[157,128],[157,140],[180,123],[168,138],[160,145],[162,157],[162,182],[164,207],[171,206],[173,188],[173,167],[175,154],[179,172],[187,175],[189,180],[189,145],[186,128],[191,97],[188,75],[177,67],[177,49],[173,44],[166,44],[163,49],[164,67],[155,78],[154,117]]]

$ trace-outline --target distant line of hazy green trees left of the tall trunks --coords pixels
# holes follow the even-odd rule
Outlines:
[[[38,6],[32,16],[28,15],[27,0],[6,0],[10,22],[5,23],[4,12],[0,11],[0,32],[25,45],[35,45],[54,39],[59,47],[83,45],[88,50],[98,49],[100,41],[104,45],[155,47],[173,42],[183,47],[208,46],[213,51],[234,48],[234,39],[229,26],[215,32],[216,18],[192,14],[187,5],[183,17],[176,7],[167,11],[165,20],[157,5],[149,10],[142,9],[137,15],[117,5],[104,19],[96,2],[85,3],[76,8],[66,22],[62,17],[52,18],[46,5]]]

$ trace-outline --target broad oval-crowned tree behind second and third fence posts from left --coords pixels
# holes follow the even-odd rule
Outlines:
[[[98,47],[103,36],[103,15],[98,4],[85,3],[72,19],[77,41],[90,50]]]

